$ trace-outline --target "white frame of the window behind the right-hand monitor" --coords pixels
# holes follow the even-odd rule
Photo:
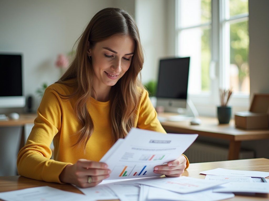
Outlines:
[[[204,116],[216,116],[216,107],[220,105],[219,89],[228,88],[227,86],[229,85],[228,80],[223,76],[225,74],[227,76],[227,73],[229,73],[229,71],[225,69],[225,62],[229,62],[230,64],[230,42],[226,42],[230,40],[230,33],[229,29],[225,28],[225,26],[228,26],[230,22],[235,23],[249,20],[249,13],[239,14],[227,19],[225,16],[225,5],[227,5],[225,1],[227,0],[211,0],[211,23],[179,28],[179,0],[175,0],[175,55],[178,55],[178,34],[180,31],[187,28],[211,26],[210,92],[188,94],[188,98],[194,103],[199,114]],[[228,105],[232,106],[233,113],[236,111],[249,110],[249,98],[250,95],[247,94],[233,93]]]

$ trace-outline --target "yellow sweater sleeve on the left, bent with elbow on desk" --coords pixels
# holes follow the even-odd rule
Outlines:
[[[50,144],[61,129],[61,102],[59,95],[48,87],[37,110],[34,127],[25,146],[19,151],[17,169],[21,176],[61,183],[59,175],[71,163],[54,161]]]

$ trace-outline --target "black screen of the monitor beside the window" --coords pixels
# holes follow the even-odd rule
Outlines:
[[[187,99],[190,57],[161,59],[157,98]]]

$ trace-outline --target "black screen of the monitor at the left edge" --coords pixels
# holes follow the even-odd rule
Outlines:
[[[22,55],[0,54],[0,96],[22,96]]]

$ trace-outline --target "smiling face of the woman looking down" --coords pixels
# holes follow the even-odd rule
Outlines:
[[[113,35],[97,42],[88,56],[94,71],[94,85],[113,86],[129,69],[134,54],[134,40],[130,36]]]

